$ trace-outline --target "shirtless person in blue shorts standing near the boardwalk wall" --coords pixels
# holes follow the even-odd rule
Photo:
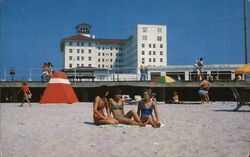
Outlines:
[[[201,97],[201,103],[207,102],[209,103],[209,95],[208,95],[208,90],[209,87],[211,86],[211,83],[208,82],[207,80],[203,79],[200,83],[200,89],[198,91],[200,97]]]

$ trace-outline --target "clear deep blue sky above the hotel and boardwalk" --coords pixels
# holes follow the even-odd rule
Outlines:
[[[61,68],[60,41],[82,22],[96,38],[121,39],[136,24],[167,25],[169,65],[244,63],[243,0],[2,0],[1,68]]]

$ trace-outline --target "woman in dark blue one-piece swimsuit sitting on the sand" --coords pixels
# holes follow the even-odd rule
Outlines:
[[[142,122],[146,122],[154,128],[158,128],[161,126],[161,123],[159,122],[160,117],[157,104],[152,100],[154,94],[151,89],[145,89],[143,95],[144,99],[139,102],[137,114],[141,116],[140,118]],[[155,117],[153,116],[153,110]]]

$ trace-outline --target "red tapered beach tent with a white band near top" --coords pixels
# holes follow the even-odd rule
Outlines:
[[[79,100],[65,73],[54,71],[40,100],[40,104],[72,104],[75,102],[79,102]]]

